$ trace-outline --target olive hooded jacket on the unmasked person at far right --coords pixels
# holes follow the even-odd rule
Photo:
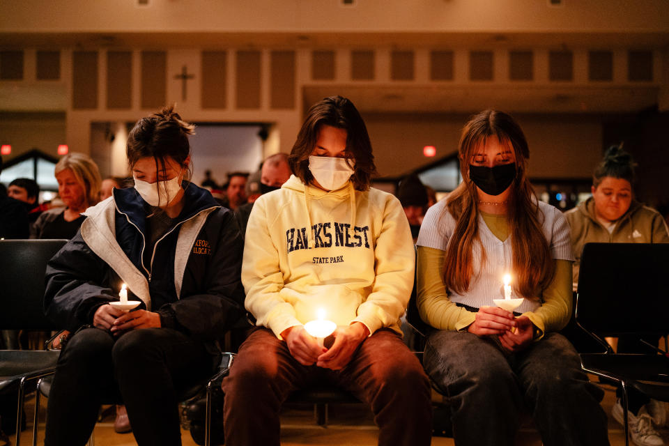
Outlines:
[[[662,215],[656,210],[633,200],[626,213],[615,222],[609,232],[598,220],[594,199],[564,214],[571,226],[571,246],[574,251],[574,283],[578,283],[580,253],[585,243],[669,243],[669,231]]]

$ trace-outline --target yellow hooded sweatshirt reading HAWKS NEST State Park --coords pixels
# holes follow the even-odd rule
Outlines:
[[[398,333],[413,286],[415,251],[392,194],[349,181],[325,192],[291,178],[249,217],[242,263],[246,309],[281,339],[323,309],[337,325]]]

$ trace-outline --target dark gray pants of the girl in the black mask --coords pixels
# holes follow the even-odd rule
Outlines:
[[[451,400],[456,445],[513,445],[523,410],[546,446],[609,444],[603,390],[587,380],[560,334],[507,355],[475,334],[433,332],[424,367]]]

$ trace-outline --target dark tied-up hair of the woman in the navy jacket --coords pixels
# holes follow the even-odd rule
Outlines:
[[[181,116],[174,112],[174,105],[163,107],[158,113],[141,118],[128,135],[125,153],[130,167],[139,158],[153,157],[155,165],[165,169],[165,158],[171,157],[184,166],[190,155],[188,135],[193,134],[194,125],[182,121]]]

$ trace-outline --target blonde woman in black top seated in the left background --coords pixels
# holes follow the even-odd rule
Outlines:
[[[72,238],[84,222],[82,213],[98,203],[100,171],[91,157],[69,153],[54,169],[58,194],[65,208],[48,210],[40,215],[31,229],[31,238]]]

